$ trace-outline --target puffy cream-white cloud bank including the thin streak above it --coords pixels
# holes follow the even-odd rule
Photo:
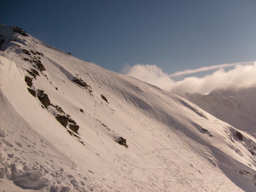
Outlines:
[[[218,66],[218,67],[217,67]],[[222,68],[220,68],[220,66]],[[223,67],[235,66],[234,69],[225,71]],[[186,77],[180,81],[174,81],[171,77],[178,74],[190,74],[199,71],[207,71],[220,68],[217,71],[207,74],[202,78]],[[153,84],[166,91],[181,95],[184,91],[191,93],[208,94],[217,87],[250,87],[256,84],[256,61],[240,62],[231,64],[215,65],[210,67],[202,67],[194,70],[185,70],[174,74],[164,73],[163,70],[156,65],[140,65],[136,64],[132,67],[125,67],[125,74],[135,77],[147,83]],[[187,71],[187,73],[185,73]],[[190,71],[190,72],[189,72]]]

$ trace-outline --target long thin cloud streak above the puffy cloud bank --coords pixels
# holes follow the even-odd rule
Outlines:
[[[210,70],[213,70],[213,69],[232,67],[232,66],[235,66],[235,65],[244,65],[244,64],[253,64],[253,61],[237,62],[237,63],[225,63],[225,64],[213,65],[213,66],[209,66],[209,67],[200,67],[200,68],[197,68],[197,69],[186,69],[184,71],[177,71],[173,74],[170,74],[169,77],[176,77],[176,76],[185,75],[185,74],[197,73],[197,72],[201,72],[201,71],[210,71]]]

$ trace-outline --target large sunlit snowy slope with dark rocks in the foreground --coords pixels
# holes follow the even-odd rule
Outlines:
[[[2,191],[255,191],[255,138],[1,25]]]

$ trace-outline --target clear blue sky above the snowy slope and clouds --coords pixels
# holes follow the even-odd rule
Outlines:
[[[256,60],[256,1],[5,1],[0,23],[103,68]]]

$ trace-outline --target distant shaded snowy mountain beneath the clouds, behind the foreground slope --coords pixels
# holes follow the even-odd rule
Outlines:
[[[239,130],[256,134],[256,86],[219,88],[208,95],[185,93],[185,98]]]

